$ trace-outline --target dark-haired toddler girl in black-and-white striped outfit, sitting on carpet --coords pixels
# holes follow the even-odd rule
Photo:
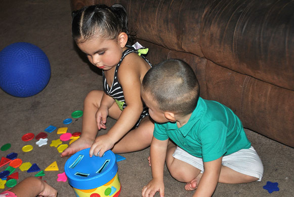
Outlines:
[[[72,37],[89,61],[102,69],[103,89],[91,91],[84,102],[81,137],[61,156],[91,147],[90,156],[142,150],[151,143],[154,124],[144,106],[140,87],[151,64],[133,47],[125,9],[95,5],[73,12]],[[117,122],[105,135],[107,116]]]

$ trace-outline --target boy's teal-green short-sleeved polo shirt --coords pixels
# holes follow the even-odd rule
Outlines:
[[[176,123],[155,123],[153,136],[170,138],[188,153],[203,162],[250,148],[243,126],[234,112],[225,105],[199,97],[188,123],[178,128]]]

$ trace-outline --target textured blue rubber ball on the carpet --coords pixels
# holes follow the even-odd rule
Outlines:
[[[46,54],[30,43],[14,43],[0,52],[0,87],[16,97],[41,92],[51,76]]]

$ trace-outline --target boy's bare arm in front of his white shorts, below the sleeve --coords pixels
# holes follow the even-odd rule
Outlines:
[[[222,168],[222,159],[223,156],[211,162],[203,162],[204,172],[193,197],[213,195],[219,182]]]

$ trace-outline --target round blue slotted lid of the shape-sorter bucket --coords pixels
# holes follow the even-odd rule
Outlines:
[[[77,189],[94,189],[109,182],[117,172],[115,155],[107,150],[102,157],[89,156],[90,148],[80,150],[66,161],[65,174]]]

